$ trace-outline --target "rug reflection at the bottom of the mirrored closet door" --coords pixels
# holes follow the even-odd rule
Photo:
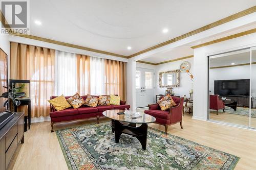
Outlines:
[[[211,110],[212,113],[216,113],[216,110]],[[223,113],[223,110],[219,110],[219,113]],[[249,117],[249,108],[237,107],[237,110],[234,111],[232,108],[225,106],[225,113],[237,114],[242,116]],[[256,117],[256,109],[251,109],[251,117]]]

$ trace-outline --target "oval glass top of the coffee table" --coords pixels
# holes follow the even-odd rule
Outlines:
[[[134,123],[134,124],[149,124],[149,123],[153,123],[156,122],[156,118],[149,115],[149,114],[145,114],[145,113],[140,113],[141,117],[139,118],[130,118],[129,116],[125,115],[125,114],[120,114],[118,115],[118,112],[122,112],[124,110],[106,110],[103,111],[103,115],[114,119],[114,120],[119,120],[120,122],[127,122],[127,123]]]

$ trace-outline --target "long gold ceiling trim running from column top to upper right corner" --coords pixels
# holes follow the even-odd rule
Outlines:
[[[245,16],[245,15],[248,15],[248,14],[251,14],[251,13],[254,13],[254,12],[256,12],[256,6],[253,6],[253,7],[251,7],[251,8],[248,8],[248,9],[243,10],[243,11],[241,11],[241,12],[238,12],[238,13],[236,13],[236,14],[230,15],[230,16],[225,17],[225,18],[223,18],[223,19],[221,19],[221,20],[218,20],[218,21],[216,21],[216,22],[212,22],[212,23],[210,23],[210,24],[207,25],[207,26],[201,27],[201,28],[199,28],[199,29],[197,29],[197,30],[194,30],[194,31],[191,31],[191,32],[189,32],[189,33],[183,34],[183,35],[181,35],[181,36],[179,36],[179,37],[176,37],[176,38],[170,39],[170,40],[168,40],[168,41],[162,42],[162,43],[160,43],[160,44],[157,44],[157,45],[155,45],[155,46],[152,46],[152,47],[150,47],[150,48],[147,48],[147,49],[145,49],[145,50],[142,50],[142,51],[140,51],[140,52],[138,52],[138,53],[132,54],[132,55],[128,56],[128,58],[132,58],[132,57],[138,56],[138,55],[140,55],[140,54],[143,54],[143,53],[146,53],[146,52],[155,50],[156,48],[162,47],[162,46],[164,46],[164,45],[167,45],[167,44],[170,44],[170,43],[173,43],[173,42],[176,42],[176,41],[179,41],[179,40],[181,40],[181,39],[184,39],[184,38],[187,38],[187,37],[189,37],[189,36],[198,34],[198,33],[200,33],[200,32],[209,30],[209,29],[211,29],[211,28],[220,26],[220,25],[222,25],[223,23],[229,22],[229,21],[231,21],[231,20],[234,20],[234,19],[243,17],[243,16]]]

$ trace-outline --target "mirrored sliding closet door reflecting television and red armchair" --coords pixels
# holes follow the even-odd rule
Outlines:
[[[253,98],[250,94],[255,91],[250,88],[250,83],[253,83],[252,79],[256,80],[256,74],[251,74],[251,48],[208,58],[208,119],[249,127],[250,115],[254,111],[251,110]],[[253,69],[256,72],[256,65]]]

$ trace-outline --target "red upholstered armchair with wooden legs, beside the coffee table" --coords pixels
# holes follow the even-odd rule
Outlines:
[[[164,96],[162,96],[160,99],[162,99],[163,97]],[[157,103],[148,105],[148,110],[144,111],[144,113],[150,114],[156,118],[155,123],[163,125],[165,127],[165,134],[167,134],[168,125],[180,123],[181,129],[183,129],[182,114],[184,98],[177,98],[175,96],[172,96],[172,98],[177,106],[172,107],[167,111],[162,111]]]

